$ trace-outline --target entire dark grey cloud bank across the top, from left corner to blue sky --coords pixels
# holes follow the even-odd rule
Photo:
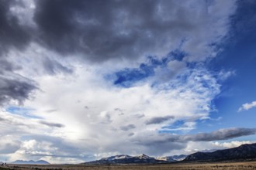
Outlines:
[[[209,44],[225,36],[227,19],[235,10],[233,1],[3,3],[0,29],[5,33],[0,36],[5,39],[5,50],[2,51],[12,46],[24,49],[36,42],[62,56],[80,54],[96,63],[164,56],[181,42],[189,61],[215,56]],[[221,12],[214,12],[216,8]],[[206,29],[207,33],[202,32]]]

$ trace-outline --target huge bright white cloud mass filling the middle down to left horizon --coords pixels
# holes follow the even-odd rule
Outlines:
[[[182,148],[182,145],[166,143],[161,148],[158,145],[147,147],[146,141],[143,141],[145,145],[137,143],[141,134],[158,138],[161,128],[179,120],[184,121],[184,127],[189,127],[185,131],[192,130],[195,121],[209,115],[211,100],[220,93],[216,78],[202,67],[193,70],[183,68],[181,76],[185,79],[173,78],[156,87],[151,86],[151,80],[145,80],[134,87],[123,88],[113,86],[111,80],[104,78],[115,70],[114,66],[106,70],[104,64],[99,67],[73,62],[72,65],[74,73],[57,73],[54,76],[43,73],[34,76],[33,67],[30,67],[31,70],[26,68],[26,72],[17,70],[24,76],[33,77],[38,83],[40,90],[34,94],[35,98],[26,100],[22,107],[35,109],[31,114],[42,117],[43,121],[31,121],[22,115],[2,112],[5,120],[9,120],[4,121],[9,124],[9,129],[2,128],[2,133],[14,134],[16,140],[22,143],[16,152],[9,155],[10,160],[47,158],[53,163],[61,160],[81,162],[92,159],[88,155],[154,154],[150,150],[157,150],[156,154],[161,155],[166,151],[164,146],[171,150]],[[40,65],[36,66],[41,69]],[[170,116],[168,122],[147,124],[154,117]],[[42,122],[63,126],[47,126]],[[19,131],[14,130],[17,127]],[[132,128],[123,131],[123,127]],[[73,157],[76,154],[85,156]]]

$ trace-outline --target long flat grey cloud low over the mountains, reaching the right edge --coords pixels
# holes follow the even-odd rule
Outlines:
[[[208,151],[216,148],[223,149],[223,146],[213,145],[214,141],[230,140],[251,134],[256,134],[255,128],[227,128],[199,134],[154,134],[147,132],[146,134],[133,136],[133,138],[134,141],[137,141],[136,145],[151,148],[150,150],[144,150],[147,154],[166,155],[168,153],[191,154],[195,151],[203,151],[206,149],[208,149]],[[178,153],[175,152],[175,150],[177,150]]]

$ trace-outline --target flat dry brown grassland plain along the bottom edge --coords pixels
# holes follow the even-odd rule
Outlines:
[[[245,170],[255,169],[256,162],[186,163],[164,165],[7,165],[0,170]]]

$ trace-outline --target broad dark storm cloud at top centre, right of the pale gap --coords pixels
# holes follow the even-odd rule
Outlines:
[[[43,46],[99,62],[138,57],[180,41],[196,26],[187,10],[174,1],[38,0],[34,21]]]

